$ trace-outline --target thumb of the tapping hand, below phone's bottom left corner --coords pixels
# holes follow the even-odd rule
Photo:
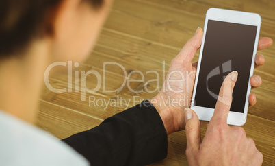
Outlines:
[[[185,133],[187,139],[186,151],[189,153],[197,152],[201,139],[200,139],[200,120],[194,110],[185,108]]]

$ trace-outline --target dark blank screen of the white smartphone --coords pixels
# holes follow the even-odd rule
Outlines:
[[[195,95],[195,106],[215,108],[222,82],[238,72],[231,111],[244,112],[257,26],[209,20]]]

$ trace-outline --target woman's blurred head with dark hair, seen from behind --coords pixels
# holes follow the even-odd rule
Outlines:
[[[81,61],[95,44],[110,0],[1,0],[0,59],[50,40],[53,60]],[[39,56],[39,55],[38,55]]]

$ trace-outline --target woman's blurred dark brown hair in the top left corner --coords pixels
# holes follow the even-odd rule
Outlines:
[[[31,40],[47,34],[47,15],[64,0],[1,0],[0,59],[20,54]],[[73,1],[73,0],[68,0]],[[98,9],[103,0],[82,0]]]

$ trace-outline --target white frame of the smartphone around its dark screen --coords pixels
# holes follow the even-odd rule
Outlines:
[[[255,56],[257,54],[257,47],[259,42],[259,34],[261,29],[261,16],[256,13],[250,13],[250,12],[239,12],[235,10],[224,10],[219,8],[210,8],[207,10],[207,14],[205,16],[205,27],[203,32],[203,38],[202,38],[202,45],[200,47],[200,54],[198,58],[198,67],[196,72],[196,80],[194,84],[194,91],[193,91],[193,97],[191,102],[191,109],[196,112],[198,115],[198,118],[203,121],[210,121],[211,117],[213,116],[214,109],[213,108],[206,108],[202,106],[194,106],[194,99],[196,95],[196,88],[198,84],[198,77],[199,77],[199,71],[200,71],[200,63],[202,60],[202,51],[203,47],[205,45],[205,34],[207,32],[207,23],[208,20],[214,20],[214,21],[224,21],[228,23],[239,23],[244,25],[254,25],[257,26],[257,34],[255,38],[255,44],[254,44],[254,51],[253,51],[253,57],[252,57],[252,64],[250,67],[250,78],[254,73],[254,60]],[[246,93],[246,104],[244,107],[244,113],[240,112],[233,112],[230,111],[228,114],[227,123],[235,126],[242,126],[244,123],[246,123],[246,117],[248,112],[248,97],[251,91],[251,85],[248,80],[248,91]]]

